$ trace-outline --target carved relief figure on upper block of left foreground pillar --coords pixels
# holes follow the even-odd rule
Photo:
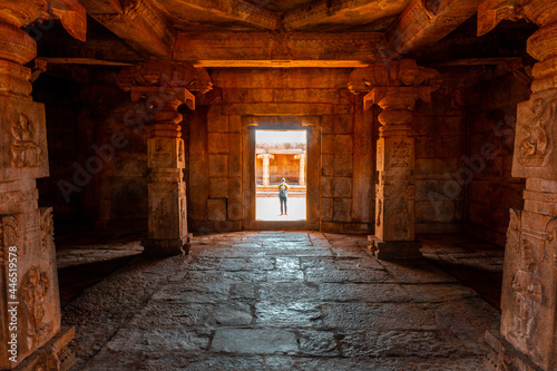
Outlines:
[[[13,141],[11,145],[12,160],[14,167],[39,167],[41,166],[41,149],[36,143],[35,127],[29,118],[21,114],[19,121],[11,126]]]

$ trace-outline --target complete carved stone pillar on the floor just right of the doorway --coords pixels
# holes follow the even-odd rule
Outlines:
[[[370,236],[370,248],[378,258],[421,256],[421,244],[414,241],[412,110],[419,98],[430,100],[438,84],[436,70],[418,67],[410,59],[358,69],[350,77],[352,92],[371,89],[364,97],[365,110],[373,104],[383,109],[377,147],[375,235]]]

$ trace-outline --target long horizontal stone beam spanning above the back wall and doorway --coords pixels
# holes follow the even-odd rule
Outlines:
[[[178,33],[174,60],[196,67],[365,67],[380,62],[383,35],[206,32]]]

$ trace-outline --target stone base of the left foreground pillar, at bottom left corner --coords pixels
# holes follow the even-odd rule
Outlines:
[[[61,328],[56,336],[25,359],[13,370],[69,370],[76,361],[76,354],[68,349],[68,344],[74,340],[76,330],[74,328]]]

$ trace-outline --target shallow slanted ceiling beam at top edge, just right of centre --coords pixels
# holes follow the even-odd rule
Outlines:
[[[400,13],[408,0],[317,0],[284,14],[286,30],[321,23],[370,23]]]

